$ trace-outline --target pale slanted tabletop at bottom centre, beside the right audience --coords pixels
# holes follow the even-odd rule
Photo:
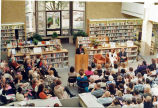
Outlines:
[[[104,108],[102,104],[97,102],[97,98],[91,93],[79,94],[79,100],[82,107]]]

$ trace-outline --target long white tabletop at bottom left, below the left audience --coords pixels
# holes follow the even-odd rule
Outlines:
[[[51,97],[49,99],[34,99],[34,100],[25,100],[25,101],[17,101],[12,102],[6,106],[24,106],[26,104],[34,103],[35,107],[54,107],[55,103],[58,103],[59,106],[62,106],[58,97]]]

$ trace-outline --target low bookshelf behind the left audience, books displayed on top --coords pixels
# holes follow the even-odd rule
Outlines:
[[[57,45],[60,46],[60,50],[57,49]],[[19,51],[16,51],[15,48],[16,46],[7,47],[8,57],[14,54],[17,61],[23,61],[24,55],[29,55],[31,58],[41,55],[47,60],[47,63],[52,64],[54,68],[68,68],[69,66],[68,50],[62,48],[60,39],[42,41],[39,42],[38,45],[21,45],[19,46]],[[41,51],[37,52],[37,50]]]

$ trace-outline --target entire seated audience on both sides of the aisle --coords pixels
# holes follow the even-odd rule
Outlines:
[[[91,92],[100,104],[108,108],[152,108],[157,105],[158,70],[155,59],[148,64],[143,61],[136,69],[123,62],[118,64],[97,64],[88,66],[88,70],[75,72],[70,67],[69,78],[76,82],[78,92]],[[62,86],[61,77],[47,60],[40,57],[24,56],[18,64],[14,55],[8,63],[0,64],[0,104],[25,99],[48,99],[57,96],[69,99],[72,95]],[[68,82],[71,80],[68,78]],[[7,99],[15,94],[14,99]]]

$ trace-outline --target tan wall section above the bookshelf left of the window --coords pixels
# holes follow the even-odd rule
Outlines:
[[[3,23],[25,22],[25,1],[7,1],[2,0]]]

